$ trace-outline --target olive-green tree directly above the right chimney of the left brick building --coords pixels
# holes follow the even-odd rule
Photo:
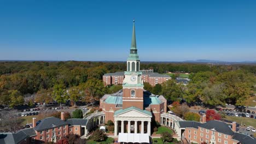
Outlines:
[[[66,92],[66,87],[63,84],[56,84],[53,88],[53,95],[57,103],[61,104],[66,103],[66,100],[68,99],[68,95]]]

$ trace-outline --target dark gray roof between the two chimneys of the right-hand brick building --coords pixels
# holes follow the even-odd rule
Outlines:
[[[206,128],[206,129],[215,129],[219,133],[227,134],[227,135],[233,135],[234,131],[231,130],[229,127],[229,124],[226,124],[221,121],[208,121],[207,123],[201,124],[199,127]]]

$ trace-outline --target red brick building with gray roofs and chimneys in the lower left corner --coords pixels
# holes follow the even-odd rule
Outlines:
[[[17,133],[0,133],[0,143],[44,143],[56,142],[68,134],[82,136],[86,131],[87,119],[72,118],[65,121],[65,113],[61,112],[61,119],[47,117],[37,121],[32,119],[31,128],[22,129]]]

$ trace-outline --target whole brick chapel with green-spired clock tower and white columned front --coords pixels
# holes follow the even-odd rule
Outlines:
[[[166,112],[166,99],[143,89],[143,72],[136,47],[135,21],[133,20],[132,43],[124,71],[123,89],[114,94],[105,94],[100,99],[100,108],[105,113],[105,123],[114,122],[114,135],[118,133],[151,134],[153,121],[160,122],[160,114]],[[122,74],[120,74],[122,75]],[[121,79],[121,78],[120,78]]]

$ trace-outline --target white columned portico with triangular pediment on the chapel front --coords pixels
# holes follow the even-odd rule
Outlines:
[[[135,106],[114,113],[114,135],[118,133],[151,134],[151,112]]]

